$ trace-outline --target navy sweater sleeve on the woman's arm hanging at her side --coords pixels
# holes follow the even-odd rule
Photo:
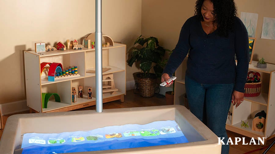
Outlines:
[[[235,28],[235,53],[237,57],[237,68],[234,90],[244,93],[244,85],[246,83],[249,65],[248,32],[243,22],[238,17],[236,17]]]

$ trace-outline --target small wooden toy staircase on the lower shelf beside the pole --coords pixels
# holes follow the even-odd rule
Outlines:
[[[105,74],[102,75],[102,93],[110,93],[111,95],[116,94],[116,91],[118,91],[117,88],[115,88],[114,83],[114,75],[113,74]],[[104,94],[103,94],[104,95]]]

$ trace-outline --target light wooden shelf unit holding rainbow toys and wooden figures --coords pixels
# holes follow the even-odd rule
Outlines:
[[[40,74],[40,63],[61,63],[63,69],[69,66],[78,67],[78,76],[55,78],[54,82],[47,79],[47,74]],[[95,49],[82,48],[82,50],[48,51],[36,53],[24,51],[25,81],[27,105],[30,112],[61,112],[70,111],[95,105],[95,73],[86,73],[95,70]],[[126,95],[126,45],[115,43],[114,46],[102,47],[102,66],[111,68],[103,74],[113,73],[114,83],[118,91],[116,94],[104,93],[103,103],[114,100],[124,101]],[[72,103],[71,87],[83,86],[83,98],[76,98]],[[87,88],[92,87],[92,99],[87,97]],[[55,102],[51,96],[47,108],[42,108],[42,93],[57,93],[61,102]]]

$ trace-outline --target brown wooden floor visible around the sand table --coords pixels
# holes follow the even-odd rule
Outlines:
[[[149,106],[160,106],[160,105],[166,105],[165,97],[160,97],[161,95],[155,95],[151,98],[144,98],[141,97],[138,94],[134,94],[133,91],[127,91],[127,95],[124,97],[124,102],[121,103],[119,101],[113,101],[109,103],[103,104],[103,109],[113,109],[113,108],[126,108],[126,107],[149,107]],[[86,107],[78,110],[95,110],[95,106],[92,107]],[[26,112],[21,112],[17,114],[27,114]],[[12,115],[12,114],[11,114]],[[7,121],[7,118],[11,115],[5,115],[3,116],[3,125],[5,126],[5,123]],[[3,129],[0,130],[0,138],[2,137]],[[229,137],[234,139],[235,137],[245,137],[245,143],[249,143],[251,138],[248,138],[246,136],[234,133],[232,131],[227,131],[227,134]],[[266,146],[270,145],[275,138],[272,138],[267,141]],[[240,143],[240,142],[239,142]],[[229,154],[244,154],[244,153],[251,153],[251,154],[262,154],[265,149],[258,150],[255,152],[251,152],[256,149],[266,148],[265,146],[261,145],[230,145]],[[267,152],[267,154],[275,154],[275,145]]]

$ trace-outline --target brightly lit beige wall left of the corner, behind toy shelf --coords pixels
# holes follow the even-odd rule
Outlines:
[[[0,1],[0,103],[24,100],[23,50],[55,45],[95,31],[95,0]],[[102,32],[132,46],[141,34],[141,0],[103,0]]]

